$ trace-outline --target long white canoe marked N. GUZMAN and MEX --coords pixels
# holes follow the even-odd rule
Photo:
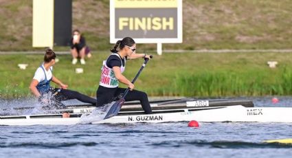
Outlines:
[[[190,102],[189,102],[190,103]],[[199,105],[199,106],[198,106]],[[8,115],[0,117],[0,125],[70,125],[80,123],[80,117],[94,108],[71,109],[70,117],[60,114]],[[146,115],[137,106],[123,106],[120,113],[107,120],[93,121],[92,124],[133,124],[137,122],[292,122],[292,108],[249,107],[243,105],[210,106],[209,104],[172,104],[153,106],[153,114]]]

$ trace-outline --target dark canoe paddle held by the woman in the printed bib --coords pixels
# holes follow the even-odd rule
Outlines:
[[[150,56],[150,58],[153,58],[153,56]],[[148,60],[149,60],[149,58],[145,58],[145,61],[142,65],[142,67],[139,69],[137,75],[132,80],[132,83],[134,83],[137,80],[139,74],[142,72],[142,70],[144,69],[144,67],[148,63]],[[120,100],[117,100],[115,103],[113,103],[113,105],[111,106],[111,109],[109,109],[108,113],[106,113],[106,116],[104,117],[104,119],[108,119],[110,117],[117,115],[117,113],[119,113],[120,109],[122,108],[122,105],[125,102],[124,98],[126,97],[128,91],[130,91],[130,88],[128,88],[128,89],[126,89],[126,91],[124,91],[124,95],[122,95],[122,98],[120,98]]]

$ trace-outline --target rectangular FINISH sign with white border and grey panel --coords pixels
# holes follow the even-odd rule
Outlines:
[[[111,43],[182,43],[182,0],[111,0]]]

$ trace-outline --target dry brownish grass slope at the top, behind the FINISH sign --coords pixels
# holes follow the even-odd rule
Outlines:
[[[32,48],[32,0],[1,0],[0,5],[0,51],[42,50]],[[109,0],[73,0],[72,5],[73,29],[83,32],[91,49],[109,49]],[[183,0],[183,43],[163,49],[291,49],[291,14],[289,0]],[[155,44],[140,47],[156,49]]]

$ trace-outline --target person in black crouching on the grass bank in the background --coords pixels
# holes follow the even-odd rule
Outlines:
[[[73,57],[72,64],[76,65],[78,58],[80,63],[85,65],[85,56],[91,57],[90,49],[86,45],[85,37],[83,37],[79,30],[74,30],[70,41],[71,55]]]

